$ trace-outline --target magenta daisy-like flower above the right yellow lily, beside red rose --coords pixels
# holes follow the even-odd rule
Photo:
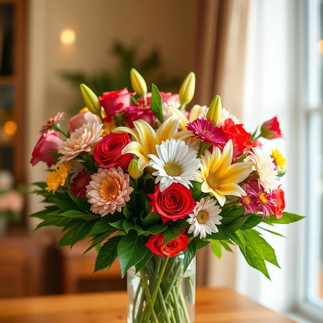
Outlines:
[[[203,142],[211,143],[213,146],[223,148],[226,139],[222,131],[217,126],[212,126],[212,122],[206,119],[196,119],[187,125],[187,130],[193,132],[194,137]]]

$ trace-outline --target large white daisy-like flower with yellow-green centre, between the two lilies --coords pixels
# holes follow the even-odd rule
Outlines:
[[[164,191],[172,183],[180,183],[189,188],[200,168],[200,158],[196,150],[190,148],[183,140],[166,140],[156,145],[157,155],[149,154],[149,165],[156,170],[155,182],[160,182],[159,189]]]

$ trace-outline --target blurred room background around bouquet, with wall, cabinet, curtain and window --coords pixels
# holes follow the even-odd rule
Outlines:
[[[266,237],[282,267],[269,265],[271,282],[238,252],[205,249],[197,283],[321,321],[322,57],[321,0],[0,0],[0,297],[125,289],[118,263],[92,274],[87,241],[55,248],[59,231],[33,231],[27,216],[41,204],[26,192],[46,172],[31,151],[49,117],[83,107],[80,83],[97,95],[131,89],[135,67],[176,93],[194,71],[193,103],[219,94],[250,131],[278,115],[285,139],[264,146],[287,157],[286,208],[307,216],[279,228],[287,239]]]

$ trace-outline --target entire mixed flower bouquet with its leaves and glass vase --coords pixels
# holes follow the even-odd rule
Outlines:
[[[251,134],[219,96],[189,111],[192,72],[179,94],[154,84],[147,92],[135,69],[130,78],[133,93],[102,97],[81,84],[86,107],[68,131],[64,113],[41,128],[31,164],[57,167],[35,183],[47,205],[31,216],[42,220],[38,228],[63,228],[58,246],[91,238],[94,271],[119,258],[122,277],[128,272],[128,322],[192,323],[197,249],[210,244],[220,258],[237,245],[270,278],[265,261],[279,265],[261,230],[276,232],[261,224],[302,219],[283,211],[284,157],[259,141],[282,137],[280,126],[275,117]]]

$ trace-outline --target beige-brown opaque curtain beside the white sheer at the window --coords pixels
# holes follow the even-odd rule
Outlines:
[[[249,0],[198,2],[195,101],[208,105],[219,94],[223,105],[241,118]],[[236,257],[218,261],[210,247],[197,252],[197,284],[234,286]]]

